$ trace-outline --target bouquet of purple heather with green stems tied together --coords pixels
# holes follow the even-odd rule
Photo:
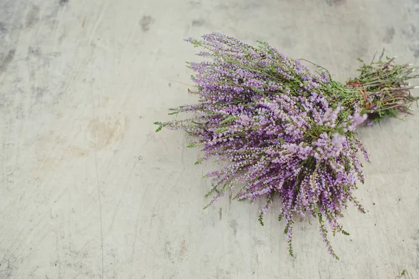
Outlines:
[[[213,157],[228,162],[205,176],[216,182],[207,194],[212,195],[210,204],[228,188],[244,185],[235,198],[254,202],[267,197],[260,210],[263,225],[263,214],[278,196],[290,254],[293,217],[309,214],[318,219],[325,246],[337,258],[328,232],[348,234],[339,224],[348,204],[365,213],[353,192],[364,182],[358,153],[365,160],[368,154],[355,128],[409,113],[417,98],[407,80],[418,77],[416,69],[380,57],[363,64],[355,80],[341,84],[324,68],[311,71],[267,43],[253,47],[220,33],[187,41],[209,58],[189,63],[196,73],[189,92],[200,100],[171,113],[192,112],[189,119],[156,122],[157,131],[185,130],[196,136],[187,147],[202,148],[197,164]]]

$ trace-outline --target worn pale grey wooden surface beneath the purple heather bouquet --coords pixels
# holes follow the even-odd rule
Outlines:
[[[267,40],[346,80],[383,47],[419,66],[418,19],[417,0],[0,0],[0,278],[419,278],[419,110],[360,131],[369,212],[346,211],[339,262],[315,220],[293,258],[277,208],[265,227],[260,204],[203,211],[218,166],[152,124],[193,102],[168,81],[189,83],[189,36]]]

